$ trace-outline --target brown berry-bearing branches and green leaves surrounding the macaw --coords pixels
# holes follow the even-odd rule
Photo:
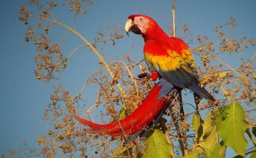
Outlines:
[[[52,10],[61,4],[48,2],[43,5],[36,0],[30,0],[29,4],[38,7],[40,15],[30,13],[26,7],[22,6],[19,8],[19,18],[26,25],[30,18],[39,20],[35,26],[29,26],[25,33],[25,41],[33,41],[39,53],[35,55],[37,70],[34,73],[37,79],[45,82],[59,79],[65,68],[69,65],[72,66],[72,64],[67,64],[69,58],[75,56],[76,51],[84,47],[88,48],[88,52],[93,52],[98,56],[99,62],[95,64],[98,64],[100,69],[88,76],[81,91],[76,95],[71,95],[60,83],[56,85],[50,96],[52,103],[48,105],[44,114],[44,120],[48,120],[52,124],[52,130],[47,131],[45,135],[38,136],[39,147],[31,148],[24,143],[24,149],[20,152],[10,150],[12,155],[29,156],[33,154],[42,157],[64,155],[86,158],[87,155],[150,157],[151,154],[158,154],[158,156],[163,154],[165,156],[162,157],[172,155],[188,158],[196,156],[221,158],[225,157],[227,147],[231,147],[241,156],[251,154],[252,157],[255,155],[256,75],[253,61],[256,52],[252,53],[252,50],[255,51],[256,42],[245,36],[231,38],[231,32],[237,26],[233,17],[230,17],[229,22],[225,25],[225,28],[230,28],[227,35],[222,30],[223,26],[217,26],[215,31],[219,39],[218,42],[214,43],[210,41],[209,37],[199,35],[197,36],[199,46],[192,49],[194,56],[200,56],[202,60],[202,66],[197,66],[201,86],[208,85],[208,90],[219,100],[219,107],[208,105],[203,100],[196,107],[183,100],[184,102],[181,104],[183,107],[191,106],[195,109],[187,108],[183,115],[178,112],[180,104],[176,100],[171,103],[163,115],[167,122],[160,122],[161,128],[159,129],[163,133],[161,130],[151,131],[147,139],[141,141],[137,138],[127,147],[123,147],[123,137],[109,137],[101,133],[85,134],[84,126],[78,126],[73,117],[80,113],[83,117],[93,120],[95,117],[91,113],[98,106],[104,107],[104,110],[100,111],[99,118],[105,122],[113,122],[132,113],[154,85],[150,77],[144,79],[135,77],[135,68],[139,67],[141,73],[148,72],[144,62],[133,62],[130,59],[130,54],[124,55],[124,61],[105,61],[102,55],[104,46],[115,45],[115,41],[123,37],[121,29],[117,26],[108,27],[110,30],[108,36],[102,31],[98,31],[94,41],[88,42],[74,30],[74,26],[68,27],[55,19]],[[75,21],[77,16],[81,16],[81,13],[86,15],[87,7],[92,4],[93,2],[89,0],[68,0],[68,3],[63,5],[69,5],[70,12],[75,12]],[[74,9],[75,11],[73,11]],[[50,40],[53,26],[67,30],[65,36],[58,43],[52,43]],[[182,29],[185,40],[192,36],[186,24]],[[61,50],[60,47],[72,33],[78,36],[85,45],[76,47],[68,53]],[[191,39],[189,42],[191,43]],[[245,53],[249,53],[251,58],[245,59],[243,57]],[[231,57],[234,56],[236,57],[235,61],[231,60]],[[230,60],[225,60],[228,58]],[[238,62],[241,62],[240,66],[237,66]],[[89,84],[98,88],[98,94],[95,104],[85,111],[85,106],[82,105],[85,105],[86,99],[89,98],[86,96],[82,98],[82,94]],[[208,114],[204,118],[202,115],[205,111]],[[192,115],[191,120],[189,118]],[[167,132],[164,128],[167,129]],[[158,152],[159,149],[161,152]]]

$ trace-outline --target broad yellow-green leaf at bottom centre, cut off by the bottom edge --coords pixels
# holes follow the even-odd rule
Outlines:
[[[160,130],[152,130],[145,141],[143,158],[171,158],[171,145]]]

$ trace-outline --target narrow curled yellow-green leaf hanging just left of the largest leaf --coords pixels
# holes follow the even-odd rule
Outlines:
[[[204,120],[204,134],[203,140],[206,144],[206,148],[213,152],[213,149],[219,144],[219,136],[216,132],[216,116],[219,114],[221,108],[213,109],[210,111]]]

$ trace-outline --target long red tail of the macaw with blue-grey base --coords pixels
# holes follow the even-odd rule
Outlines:
[[[139,135],[153,120],[157,122],[158,116],[162,116],[169,107],[170,102],[175,98],[174,93],[169,93],[170,91],[174,91],[174,86],[161,79],[133,113],[110,124],[95,124],[78,116],[74,118],[90,127],[85,131],[86,133],[103,132],[113,137]],[[166,97],[168,93],[170,96]]]

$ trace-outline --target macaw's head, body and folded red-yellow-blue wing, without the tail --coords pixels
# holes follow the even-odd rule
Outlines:
[[[200,87],[194,58],[182,39],[169,37],[156,21],[146,15],[130,15],[125,30],[127,34],[131,31],[142,35],[144,59],[150,69],[172,85],[193,91],[194,96],[215,101],[206,89]]]

